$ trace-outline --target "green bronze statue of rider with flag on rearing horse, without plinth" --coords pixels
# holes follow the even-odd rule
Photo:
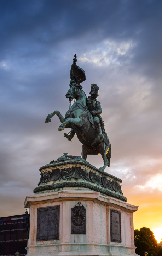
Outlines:
[[[88,98],[82,90],[81,82],[86,80],[85,72],[76,65],[76,54],[70,70],[70,89],[66,93],[69,99],[70,109],[66,112],[65,118],[55,110],[48,114],[45,123],[51,122],[51,118],[57,115],[60,119],[59,131],[65,128],[71,128],[69,134],[64,133],[64,137],[71,140],[75,133],[82,146],[82,158],[87,159],[87,155],[101,154],[104,160],[104,166],[99,168],[103,170],[110,166],[111,144],[104,129],[104,122],[100,114],[102,113],[101,103],[97,101],[99,87],[97,84],[91,85],[91,91]],[[76,100],[71,106],[71,101]]]

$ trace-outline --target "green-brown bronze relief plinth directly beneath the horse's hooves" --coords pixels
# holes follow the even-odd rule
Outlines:
[[[51,169],[51,167],[56,167],[56,169]],[[120,179],[95,168],[80,156],[64,153],[56,161],[51,161],[40,170],[39,187],[35,188],[34,193],[64,187],[82,187],[126,201],[126,198],[122,196]]]

